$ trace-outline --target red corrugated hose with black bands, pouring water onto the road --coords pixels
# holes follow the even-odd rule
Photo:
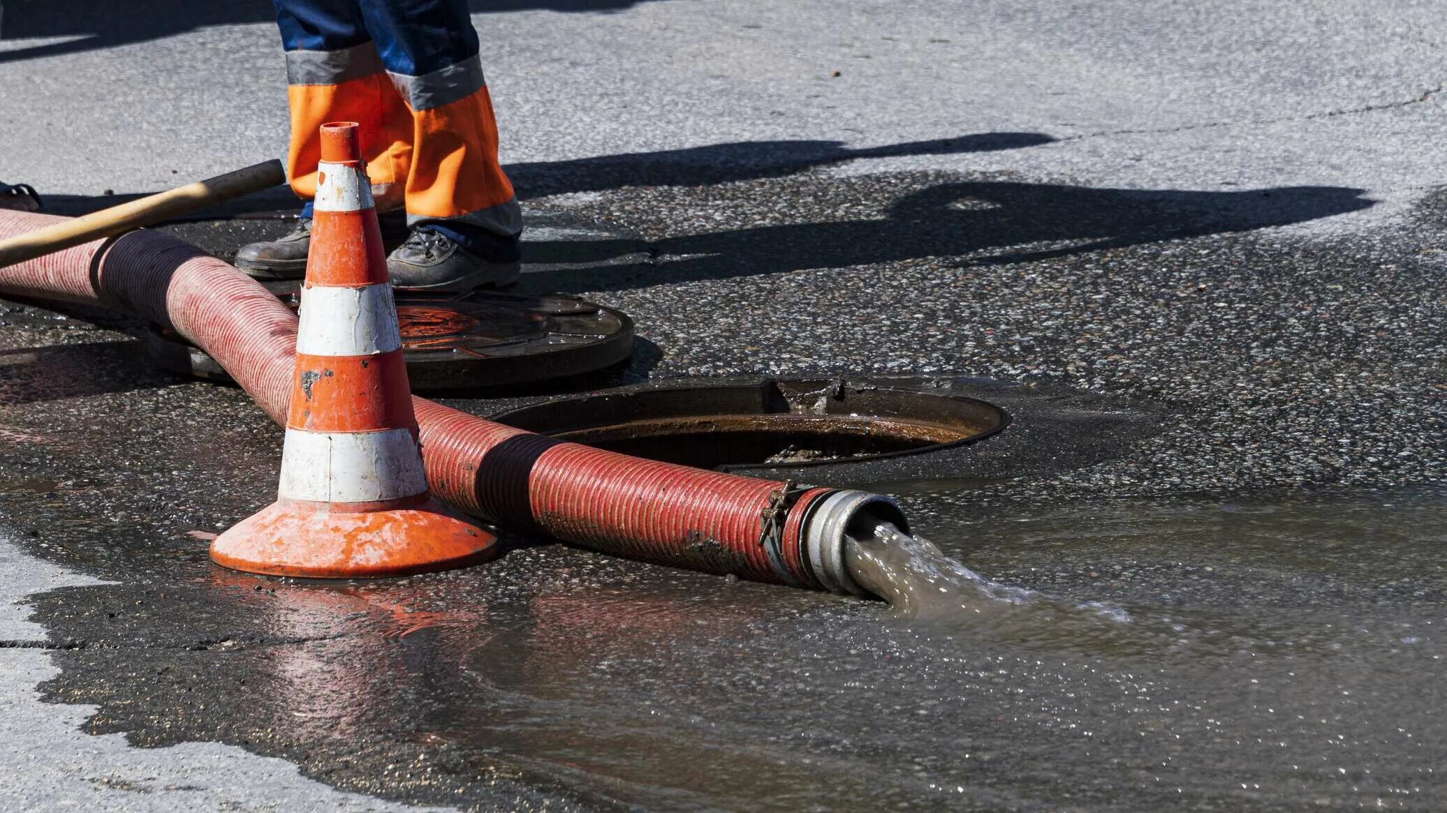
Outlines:
[[[0,239],[59,218],[0,210]],[[0,268],[0,292],[98,304],[174,328],[287,420],[297,315],[260,284],[159,231],[130,231]],[[888,498],[705,472],[563,443],[414,396],[433,493],[504,528],[742,579],[864,593],[844,567],[855,519]]]

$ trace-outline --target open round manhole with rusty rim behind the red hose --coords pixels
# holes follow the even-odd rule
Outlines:
[[[702,469],[803,469],[919,454],[1010,422],[993,404],[870,379],[763,379],[598,392],[493,420],[560,440]]]

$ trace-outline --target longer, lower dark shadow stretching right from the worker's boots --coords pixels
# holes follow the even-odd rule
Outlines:
[[[528,275],[528,286],[557,292],[618,291],[929,257],[946,259],[956,268],[1026,263],[1142,243],[1288,226],[1373,205],[1362,197],[1363,190],[1344,187],[1214,192],[1001,181],[928,182],[941,176],[813,176],[773,182],[774,188],[751,185],[750,194],[773,197],[786,210],[815,207],[820,214],[841,211],[861,200],[878,200],[875,195],[881,188],[884,194],[893,192],[894,200],[883,207],[881,217],[654,237],[647,242],[653,262],[548,271]],[[687,201],[679,205],[690,211],[728,205],[728,194],[716,190],[726,187],[687,191]],[[611,203],[616,205],[616,201]],[[667,208],[676,201],[650,198],[642,204]],[[580,249],[582,244],[573,250]],[[596,260],[609,250],[635,250],[635,242],[618,242],[616,246],[593,243],[589,249],[599,255],[593,257]]]

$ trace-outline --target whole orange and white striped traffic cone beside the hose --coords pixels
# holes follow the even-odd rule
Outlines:
[[[427,493],[357,124],[323,124],[276,502],[211,542],[221,566],[356,579],[472,564],[496,537]]]

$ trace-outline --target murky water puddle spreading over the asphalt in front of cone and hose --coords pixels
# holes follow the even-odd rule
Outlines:
[[[903,609],[560,545],[300,584],[213,569],[201,540],[33,600],[74,644],[46,696],[98,705],[91,731],[234,742],[394,799],[1437,810],[1443,496],[915,496],[994,582],[935,561],[954,592]]]

